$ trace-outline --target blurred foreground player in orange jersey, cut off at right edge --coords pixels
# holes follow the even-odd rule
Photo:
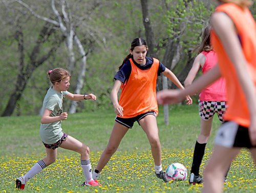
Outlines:
[[[211,16],[211,42],[219,65],[184,91],[161,91],[160,104],[175,103],[202,90],[223,76],[228,109],[219,128],[214,151],[204,171],[202,192],[222,192],[223,178],[242,147],[249,148],[256,163],[256,25],[249,0],[222,0]]]

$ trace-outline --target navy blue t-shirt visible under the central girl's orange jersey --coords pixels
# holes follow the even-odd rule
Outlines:
[[[146,63],[143,66],[140,66],[134,59],[132,58],[134,64],[141,70],[147,70],[150,69],[152,64],[153,64],[153,58],[146,57]],[[160,76],[162,72],[165,71],[165,66],[160,62],[159,68],[157,71],[157,75]],[[125,82],[126,80],[129,79],[130,74],[132,72],[132,65],[130,60],[126,60],[122,66],[122,68],[116,73],[114,76],[115,80],[120,80],[121,82]]]

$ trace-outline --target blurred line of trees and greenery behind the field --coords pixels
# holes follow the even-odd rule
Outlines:
[[[132,39],[148,43],[184,81],[214,11],[210,0],[2,0],[0,3],[0,114],[39,114],[49,88],[47,71],[71,74],[70,91],[94,93],[93,103],[65,101],[69,113],[112,107],[113,76]],[[251,8],[255,14],[255,5]],[[159,77],[158,90],[172,88]]]

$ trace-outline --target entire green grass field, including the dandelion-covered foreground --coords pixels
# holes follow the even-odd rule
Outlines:
[[[94,168],[108,143],[114,124],[113,111],[97,111],[69,115],[62,122],[63,131],[89,145]],[[199,134],[200,119],[197,105],[170,106],[169,125],[164,125],[162,110],[158,116],[162,145],[162,164],[184,164],[188,175],[193,148]],[[24,175],[39,159],[45,148],[39,137],[39,116],[0,117],[0,193],[17,192],[15,179]],[[214,119],[212,137],[202,162],[203,170],[218,126]],[[202,171],[201,171],[202,173]],[[202,185],[188,185],[187,181],[164,183],[154,175],[150,145],[140,126],[135,123],[122,140],[118,151],[102,170],[102,187],[81,187],[84,180],[79,155],[58,149],[58,159],[31,179],[22,192],[200,192]],[[256,174],[247,150],[242,150],[233,161],[224,192],[255,192]]]

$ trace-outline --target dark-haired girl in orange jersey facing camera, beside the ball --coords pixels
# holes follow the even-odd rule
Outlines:
[[[114,77],[116,81],[111,91],[111,100],[117,116],[109,143],[93,172],[94,180],[97,180],[100,171],[116,152],[126,132],[137,121],[150,142],[156,175],[166,182],[162,171],[161,144],[156,121],[158,114],[156,100],[157,76],[163,73],[178,88],[184,88],[174,73],[165,68],[158,59],[146,57],[146,53],[146,41],[142,38],[135,38],[131,44],[130,54],[125,57]],[[122,92],[118,101],[117,94],[120,88]],[[187,104],[192,103],[189,96],[186,97],[186,100]]]

